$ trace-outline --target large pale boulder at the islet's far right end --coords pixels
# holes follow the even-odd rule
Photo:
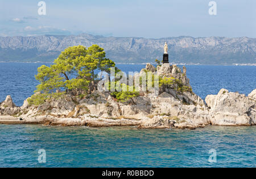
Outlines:
[[[256,124],[256,101],[244,94],[221,89],[217,95],[205,98],[210,123],[222,126],[251,126]]]

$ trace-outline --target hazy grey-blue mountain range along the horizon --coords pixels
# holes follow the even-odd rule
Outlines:
[[[0,61],[52,62],[65,48],[98,44],[115,63],[152,63],[162,60],[167,41],[169,61],[185,64],[256,63],[256,38],[115,38],[81,34],[78,36],[0,37]]]

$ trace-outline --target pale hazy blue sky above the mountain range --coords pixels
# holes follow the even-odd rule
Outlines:
[[[0,0],[0,36],[248,36],[256,38],[256,0]]]

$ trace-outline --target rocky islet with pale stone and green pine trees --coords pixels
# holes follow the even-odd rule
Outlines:
[[[72,57],[74,49],[82,53],[82,56],[77,56],[76,53],[76,57]],[[81,64],[94,64],[92,57],[100,64],[100,67],[95,66],[95,69],[102,68],[108,71],[110,66],[114,66],[111,60],[103,59],[105,52],[98,46],[88,49],[81,46],[69,48],[55,60],[58,68],[54,65],[39,68],[36,78],[41,84],[37,87],[36,93],[24,101],[23,106],[16,106],[10,95],[0,103],[0,123],[88,127],[137,126],[191,130],[208,125],[256,124],[256,89],[248,96],[221,89],[217,95],[208,95],[204,101],[193,93],[185,66],[181,71],[176,65],[159,63],[156,68],[147,64],[138,74],[139,79],[144,72],[159,76],[158,95],[148,90],[126,93],[102,91],[96,85],[101,79],[95,80],[94,76],[88,78],[88,74],[94,75],[94,70],[81,67]],[[67,69],[68,67],[70,69]],[[69,73],[76,69],[77,77],[68,78],[68,73],[64,73],[64,69]],[[61,76],[58,76],[59,74]],[[52,87],[52,84],[55,86]],[[84,88],[85,86],[88,88]],[[53,90],[54,93],[49,93]]]

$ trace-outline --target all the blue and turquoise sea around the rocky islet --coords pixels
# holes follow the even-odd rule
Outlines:
[[[33,94],[42,64],[0,63],[0,101],[16,105]],[[49,65],[49,64],[48,64]],[[117,65],[124,72],[145,65]],[[249,94],[256,88],[255,66],[187,65],[193,91],[201,98],[221,88]],[[46,163],[38,163],[38,150]],[[217,163],[209,163],[210,149]],[[210,126],[190,130],[137,130],[134,127],[86,128],[0,125],[0,167],[255,167],[256,127]]]

